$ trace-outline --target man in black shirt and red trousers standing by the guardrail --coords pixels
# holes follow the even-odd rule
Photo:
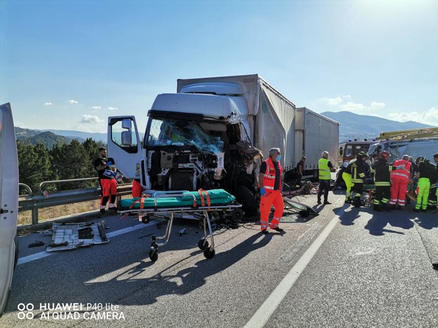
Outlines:
[[[94,160],[93,166],[97,170],[99,176],[100,188],[102,196],[100,198],[100,213],[105,213],[105,207],[108,200],[108,210],[117,211],[115,205],[117,195],[117,184],[114,178],[116,168],[111,168],[109,165],[114,165],[114,161],[106,158],[107,152],[105,148],[99,148],[98,158]],[[110,199],[111,197],[111,199]]]

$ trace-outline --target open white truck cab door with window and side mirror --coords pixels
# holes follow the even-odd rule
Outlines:
[[[142,142],[134,116],[108,117],[108,157],[117,169],[129,179],[139,179],[141,174]]]

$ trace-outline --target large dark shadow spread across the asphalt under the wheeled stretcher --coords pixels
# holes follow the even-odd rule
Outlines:
[[[175,230],[177,231],[177,226],[175,226]],[[83,253],[83,257],[85,256],[90,264],[88,266],[83,265],[81,258],[75,258],[68,265],[58,265],[57,261],[60,259],[53,257],[45,264],[44,270],[35,271],[34,269],[33,276],[30,278],[29,270],[25,270],[25,265],[22,265],[14,273],[13,293],[8,311],[16,311],[18,303],[22,303],[23,298],[26,303],[32,304],[60,302],[153,304],[160,296],[184,295],[202,287],[208,277],[226,270],[249,253],[265,247],[272,238],[281,235],[280,233],[267,235],[256,233],[233,248],[216,253],[212,259],[205,259],[201,255],[202,259],[196,263],[187,263],[191,256],[202,254],[201,250],[196,249],[184,258],[177,257],[175,262],[172,261],[172,264],[154,276],[142,277],[142,274],[159,263],[160,257],[162,261],[169,260],[169,258],[162,257],[164,254],[193,248],[203,235],[203,233],[199,231],[196,233],[196,231],[198,229],[189,228],[188,233],[182,237],[179,237],[177,233],[172,233],[170,243],[163,247],[161,252],[158,252],[158,262],[156,263],[147,257],[150,241],[143,238],[142,240],[145,241],[143,247],[131,245],[128,248],[112,249],[102,245],[100,252],[97,251],[99,246],[94,246],[92,252],[84,253],[84,249],[69,251],[70,254]],[[178,269],[178,267],[185,265],[190,265],[190,267]],[[110,279],[104,278],[104,281],[94,281],[98,277],[105,277],[105,275],[115,271],[119,271],[118,274],[112,275]],[[169,274],[170,271],[177,272]],[[251,279],[251,277],[249,278]],[[45,281],[52,281],[48,286],[53,286],[56,281],[55,284],[66,286],[66,288],[62,292],[53,292],[51,287],[46,286]]]

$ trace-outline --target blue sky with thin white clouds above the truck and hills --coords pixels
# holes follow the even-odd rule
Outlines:
[[[255,74],[297,106],[438,126],[438,1],[0,0],[15,125],[143,130],[177,78]]]

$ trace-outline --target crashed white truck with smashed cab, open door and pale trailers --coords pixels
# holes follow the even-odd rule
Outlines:
[[[305,113],[304,155],[311,153],[313,164],[325,150],[337,163],[339,124]],[[257,149],[266,158],[269,148],[279,147],[286,168],[302,157],[295,155],[295,115],[295,105],[257,74],[179,79],[176,94],[156,97],[144,140],[134,116],[108,117],[108,153],[146,189],[223,188],[251,212],[257,207]],[[315,176],[316,166],[312,170]]]

